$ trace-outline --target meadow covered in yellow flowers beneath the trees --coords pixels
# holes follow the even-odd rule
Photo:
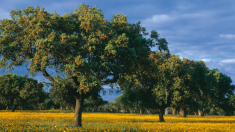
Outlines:
[[[82,128],[73,126],[72,111],[59,110],[0,110],[0,131],[71,132],[71,131],[170,131],[170,132],[235,132],[235,116],[187,115],[186,118],[167,115],[166,122],[158,122],[158,114],[89,113],[82,114]]]

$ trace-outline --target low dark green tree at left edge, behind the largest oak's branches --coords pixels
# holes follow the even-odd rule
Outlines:
[[[0,77],[0,103],[5,106],[12,105],[12,112],[18,106],[39,103],[43,92],[43,84],[37,80],[16,74],[7,74]]]

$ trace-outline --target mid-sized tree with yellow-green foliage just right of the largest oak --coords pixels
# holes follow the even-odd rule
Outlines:
[[[189,67],[184,66],[181,59],[174,54],[169,56],[164,52],[156,52],[151,54],[150,57],[154,60],[154,64],[158,66],[158,71],[152,72],[157,78],[150,77],[155,81],[149,83],[148,86],[153,86],[150,88],[152,88],[155,97],[155,107],[159,109],[159,122],[164,122],[165,109],[174,106],[179,99],[188,96],[184,97],[179,93],[187,88],[182,84],[189,80],[187,74]]]

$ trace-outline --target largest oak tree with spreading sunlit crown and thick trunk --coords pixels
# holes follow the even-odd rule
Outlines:
[[[108,22],[96,7],[88,9],[82,4],[69,14],[50,14],[38,6],[12,10],[12,20],[0,20],[0,67],[12,70],[13,66],[30,62],[28,72],[32,76],[41,72],[52,85],[58,84],[60,73],[73,79],[74,125],[82,127],[84,99],[102,85],[132,75],[137,66],[149,68],[146,58],[150,48],[164,48],[164,40],[158,39],[156,31],[152,31],[151,38],[158,43],[146,40],[140,32],[148,33],[140,22],[128,24],[124,15],[113,15]],[[57,76],[52,77],[46,68],[54,68]]]

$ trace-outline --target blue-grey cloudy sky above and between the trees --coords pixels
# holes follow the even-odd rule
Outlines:
[[[11,10],[22,10],[28,6],[35,8],[37,5],[49,13],[56,10],[62,16],[74,13],[82,3],[89,7],[96,5],[109,21],[113,14],[122,13],[129,23],[140,21],[148,33],[156,30],[161,38],[167,40],[171,54],[194,61],[203,60],[210,69],[217,68],[230,76],[232,84],[235,84],[234,0],[1,0],[0,19],[11,19]],[[152,51],[156,50],[157,47],[152,48]],[[14,68],[10,73],[30,75],[25,65]],[[55,70],[47,70],[53,77],[56,76]],[[0,72],[0,76],[4,74],[7,70],[3,74]],[[37,73],[34,79],[49,82],[42,73]],[[109,95],[109,85],[103,87],[107,91],[105,96],[100,93],[104,100],[114,102],[120,95],[115,92]]]

